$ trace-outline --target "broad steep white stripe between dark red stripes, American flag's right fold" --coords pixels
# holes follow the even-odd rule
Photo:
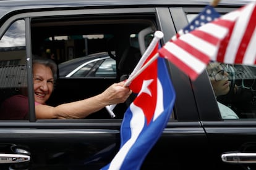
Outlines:
[[[253,4],[245,6],[240,13],[240,17],[237,18],[237,21],[234,25],[233,33],[231,35],[231,38],[229,39],[226,54],[224,55],[224,63],[234,63],[237,50],[239,49],[241,40],[244,37],[244,33],[250,19],[250,17],[248,16],[252,14],[252,10],[254,9],[254,5],[252,5]]]

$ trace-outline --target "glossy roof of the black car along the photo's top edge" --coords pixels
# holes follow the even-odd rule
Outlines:
[[[241,6],[248,4],[252,0],[223,0],[219,2],[220,6]],[[184,5],[207,5],[207,0],[4,0],[0,1],[0,18],[9,12],[26,9],[49,9],[63,7],[104,7],[104,6],[184,6]]]

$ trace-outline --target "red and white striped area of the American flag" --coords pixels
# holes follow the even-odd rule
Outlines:
[[[255,3],[248,4],[216,20],[209,20],[189,33],[177,34],[177,38],[164,44],[158,53],[193,80],[205,70],[210,60],[254,64],[255,17]],[[189,24],[192,26],[195,22]]]

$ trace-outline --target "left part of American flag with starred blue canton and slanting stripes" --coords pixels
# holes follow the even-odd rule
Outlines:
[[[220,14],[212,6],[206,6],[189,25],[178,31],[160,49],[160,56],[166,57],[191,79],[197,78],[210,60],[208,55],[212,55],[216,51],[210,41],[213,36],[205,31],[199,31],[197,28],[218,17]],[[215,30],[211,29],[211,32],[215,32]]]

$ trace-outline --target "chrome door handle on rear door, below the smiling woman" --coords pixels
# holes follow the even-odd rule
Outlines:
[[[23,163],[27,161],[30,161],[28,155],[0,153],[0,163]]]

